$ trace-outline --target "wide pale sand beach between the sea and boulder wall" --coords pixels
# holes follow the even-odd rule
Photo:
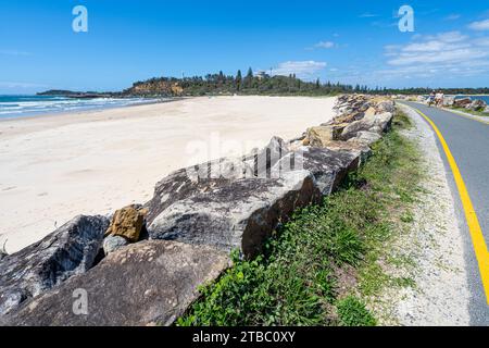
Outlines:
[[[0,247],[8,239],[15,252],[77,214],[143,203],[174,170],[300,136],[330,120],[334,102],[202,97],[0,121]]]

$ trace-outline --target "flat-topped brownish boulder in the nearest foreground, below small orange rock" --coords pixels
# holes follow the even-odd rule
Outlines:
[[[198,287],[229,265],[206,246],[145,240],[111,253],[88,273],[23,304],[3,325],[171,325],[198,296]]]

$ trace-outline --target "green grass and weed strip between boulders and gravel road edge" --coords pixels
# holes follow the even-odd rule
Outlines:
[[[373,157],[319,206],[296,212],[254,260],[233,252],[233,268],[201,287],[177,325],[375,325],[363,298],[409,286],[385,274],[385,246],[412,221],[417,151],[401,129],[374,145]]]

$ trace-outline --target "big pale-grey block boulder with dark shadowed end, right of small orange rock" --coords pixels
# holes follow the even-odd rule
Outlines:
[[[150,238],[211,245],[225,252],[239,248],[253,257],[279,223],[321,192],[308,171],[279,178],[243,178],[175,201],[149,226]]]

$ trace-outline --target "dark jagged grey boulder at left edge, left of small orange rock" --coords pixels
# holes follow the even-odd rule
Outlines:
[[[0,262],[0,315],[25,300],[87,272],[102,246],[109,220],[77,216],[42,240]]]

